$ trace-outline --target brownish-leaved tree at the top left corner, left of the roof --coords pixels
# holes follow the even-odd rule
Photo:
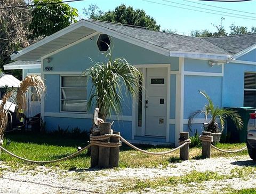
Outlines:
[[[30,22],[30,10],[20,8],[10,8],[14,5],[26,5],[24,0],[0,1],[0,69],[4,64],[10,62],[10,54],[14,50],[20,50],[31,44],[28,25]],[[18,79],[22,78],[22,72],[15,70],[12,74]]]

